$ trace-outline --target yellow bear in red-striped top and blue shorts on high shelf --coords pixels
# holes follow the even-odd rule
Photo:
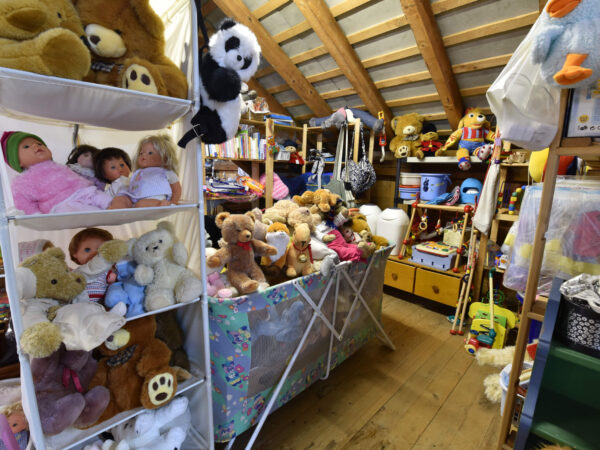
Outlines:
[[[465,115],[458,122],[458,129],[452,132],[446,143],[436,152],[436,156],[441,155],[458,142],[456,152],[458,168],[469,170],[471,155],[474,154],[484,161],[492,154],[493,146],[485,143],[486,141],[493,142],[496,136],[490,128],[491,125],[480,108],[467,108]]]

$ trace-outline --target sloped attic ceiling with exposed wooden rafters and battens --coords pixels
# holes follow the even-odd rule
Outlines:
[[[251,87],[272,95],[273,111],[300,122],[341,106],[418,112],[447,134],[464,108],[489,112],[485,92],[544,2],[421,1],[209,0],[202,9],[209,30],[230,16],[257,34],[263,58]]]

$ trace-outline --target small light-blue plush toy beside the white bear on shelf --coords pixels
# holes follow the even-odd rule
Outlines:
[[[104,305],[112,308],[122,302],[127,306],[125,317],[144,314],[144,291],[146,288],[135,281],[135,261],[126,259],[116,265],[117,281],[108,286],[104,296]]]

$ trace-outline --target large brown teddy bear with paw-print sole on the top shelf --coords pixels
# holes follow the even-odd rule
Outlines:
[[[187,98],[187,79],[165,56],[164,24],[149,0],[74,0],[92,51],[85,80]]]

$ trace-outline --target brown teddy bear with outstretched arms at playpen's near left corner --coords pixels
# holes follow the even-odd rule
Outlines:
[[[254,219],[245,214],[222,212],[215,219],[221,229],[225,246],[206,260],[210,268],[227,264],[227,279],[240,294],[256,291],[259,283],[266,287],[265,275],[254,256],[275,255],[277,249],[252,238]]]

